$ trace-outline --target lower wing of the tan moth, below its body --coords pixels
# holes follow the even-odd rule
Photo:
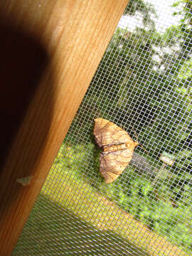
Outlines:
[[[105,178],[106,183],[112,183],[124,171],[132,160],[134,148],[112,152],[110,154],[100,154],[100,173]]]

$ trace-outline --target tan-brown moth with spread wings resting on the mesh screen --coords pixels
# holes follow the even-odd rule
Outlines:
[[[112,183],[124,171],[132,160],[135,146],[127,132],[113,122],[96,118],[93,134],[97,145],[102,149],[100,153],[100,173],[106,183]]]

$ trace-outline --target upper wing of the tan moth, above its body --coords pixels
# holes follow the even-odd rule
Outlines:
[[[102,118],[95,119],[93,133],[95,135],[95,140],[100,147],[112,144],[134,143],[129,134],[122,128],[118,127],[113,122]]]

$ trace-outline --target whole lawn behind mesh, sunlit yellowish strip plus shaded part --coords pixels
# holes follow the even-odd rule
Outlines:
[[[75,154],[76,166],[73,150],[67,147],[64,159],[62,150],[13,256],[129,255],[131,252],[141,256],[187,255],[98,192],[100,176],[87,178],[88,175],[80,174],[77,166],[86,164],[83,148]],[[94,180],[95,187],[91,184]],[[101,192],[105,191],[106,186],[101,188]]]

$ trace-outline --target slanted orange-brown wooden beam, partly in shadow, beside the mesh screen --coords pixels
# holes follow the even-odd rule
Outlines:
[[[0,3],[1,255],[14,249],[127,2]]]

